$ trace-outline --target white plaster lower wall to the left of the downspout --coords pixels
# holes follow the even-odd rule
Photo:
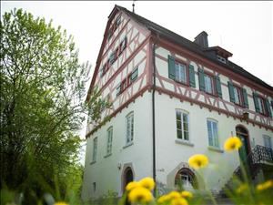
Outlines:
[[[112,190],[122,194],[122,169],[117,164],[133,164],[135,179],[152,176],[152,108],[151,93],[137,97],[135,103],[123,109],[120,113],[99,128],[90,138],[87,138],[86,165],[82,190],[83,200],[96,199]],[[134,144],[126,145],[126,115],[134,111]],[[106,130],[113,126],[112,155],[106,156]],[[90,164],[93,153],[93,138],[97,137],[96,163]],[[93,191],[96,182],[96,191]]]

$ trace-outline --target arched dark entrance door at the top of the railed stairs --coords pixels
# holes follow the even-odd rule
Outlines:
[[[236,127],[236,135],[238,138],[241,139],[242,141],[242,147],[238,150],[239,152],[239,157],[241,161],[245,164],[248,164],[247,158],[248,154],[250,152],[250,147],[249,147],[249,140],[248,140],[248,130],[246,128],[243,128],[241,126]]]

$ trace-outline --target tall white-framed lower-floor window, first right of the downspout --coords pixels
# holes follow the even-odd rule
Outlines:
[[[188,114],[181,110],[177,110],[176,114],[177,114],[177,138],[189,140]]]

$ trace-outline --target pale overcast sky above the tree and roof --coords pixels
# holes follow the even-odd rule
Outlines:
[[[108,15],[115,5],[132,10],[133,1],[1,1],[1,15],[14,8],[53,20],[74,36],[80,62],[94,72]],[[135,12],[194,40],[201,31],[209,46],[233,54],[229,60],[273,86],[273,2],[136,1]],[[81,131],[84,138],[85,126]]]

